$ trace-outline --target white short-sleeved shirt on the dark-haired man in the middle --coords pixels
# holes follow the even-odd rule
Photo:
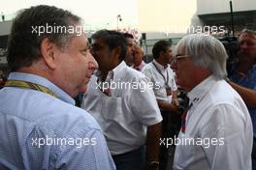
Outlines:
[[[143,73],[121,62],[109,71],[106,82],[112,84],[109,96],[97,88],[97,77],[93,76],[81,107],[103,129],[111,154],[120,155],[143,146],[147,126],[160,123],[162,116],[152,88],[145,85],[148,81]]]

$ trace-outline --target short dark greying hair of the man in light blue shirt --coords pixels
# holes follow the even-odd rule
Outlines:
[[[49,41],[65,49],[75,34],[63,33],[62,29],[56,33],[55,28],[69,28],[81,21],[80,17],[69,11],[53,6],[39,5],[21,10],[14,19],[10,40],[8,42],[7,61],[12,71],[22,67],[29,67],[41,59],[41,43],[48,38]],[[51,31],[47,31],[49,26]],[[36,34],[32,28],[38,28]],[[39,35],[39,27],[44,32]]]

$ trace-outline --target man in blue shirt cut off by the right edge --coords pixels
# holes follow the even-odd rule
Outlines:
[[[229,78],[249,110],[253,125],[252,169],[256,169],[256,32],[243,29],[239,38],[240,63]]]

